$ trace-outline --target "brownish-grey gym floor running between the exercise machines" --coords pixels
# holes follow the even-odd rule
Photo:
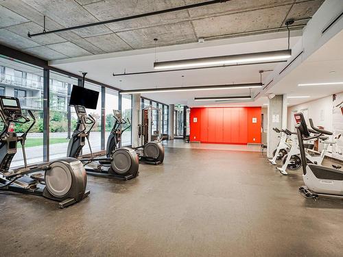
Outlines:
[[[343,201],[305,199],[300,171],[258,152],[166,147],[135,180],[88,176],[60,210],[0,193],[0,256],[342,256]]]

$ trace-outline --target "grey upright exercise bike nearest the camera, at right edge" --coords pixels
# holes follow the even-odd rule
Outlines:
[[[322,135],[331,136],[332,133],[314,126],[309,119],[311,128],[318,134],[310,136],[302,113],[294,114],[296,132],[298,134],[300,157],[303,162],[303,180],[305,186],[300,186],[299,192],[307,198],[317,199],[320,196],[343,197],[343,171],[340,166],[333,165],[331,169],[318,164],[308,164],[305,154],[304,140],[319,138]]]

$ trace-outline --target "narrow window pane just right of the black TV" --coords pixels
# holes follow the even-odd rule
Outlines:
[[[106,88],[105,94],[105,147],[107,144],[110,131],[115,125],[115,117],[113,117],[113,110],[118,110],[119,106],[118,91]]]

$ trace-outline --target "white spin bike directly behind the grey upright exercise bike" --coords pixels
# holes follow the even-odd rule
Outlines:
[[[309,129],[309,132],[318,134],[316,131]],[[296,132],[292,132],[292,134],[296,134]],[[320,139],[320,143],[324,144],[324,147],[322,151],[314,151],[314,144],[304,143],[305,148],[305,155],[308,162],[314,163],[314,164],[322,164],[322,161],[324,160],[325,155],[327,154],[327,149],[329,145],[335,144],[335,142],[328,141],[328,136],[320,136],[318,137]],[[298,140],[294,139],[292,143],[292,147],[289,150],[288,154],[283,156],[283,166],[282,167],[276,167],[280,171],[281,174],[287,175],[286,169],[296,171],[302,166],[302,161],[300,158],[300,149],[299,149],[299,143]]]

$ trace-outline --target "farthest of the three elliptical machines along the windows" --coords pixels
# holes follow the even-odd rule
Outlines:
[[[113,114],[115,117],[115,125],[113,126],[113,130],[111,131],[110,137],[108,138],[108,140],[111,139],[111,142],[113,143],[107,143],[107,154],[110,154],[115,149],[118,149],[120,147],[121,134],[129,127],[131,127],[130,120],[123,119],[119,110],[113,110]],[[121,130],[120,127],[125,124],[128,124],[128,126],[124,130]],[[147,142],[141,147],[133,147],[132,149],[136,151],[139,162],[145,164],[161,164],[165,157],[165,149],[158,141]]]

